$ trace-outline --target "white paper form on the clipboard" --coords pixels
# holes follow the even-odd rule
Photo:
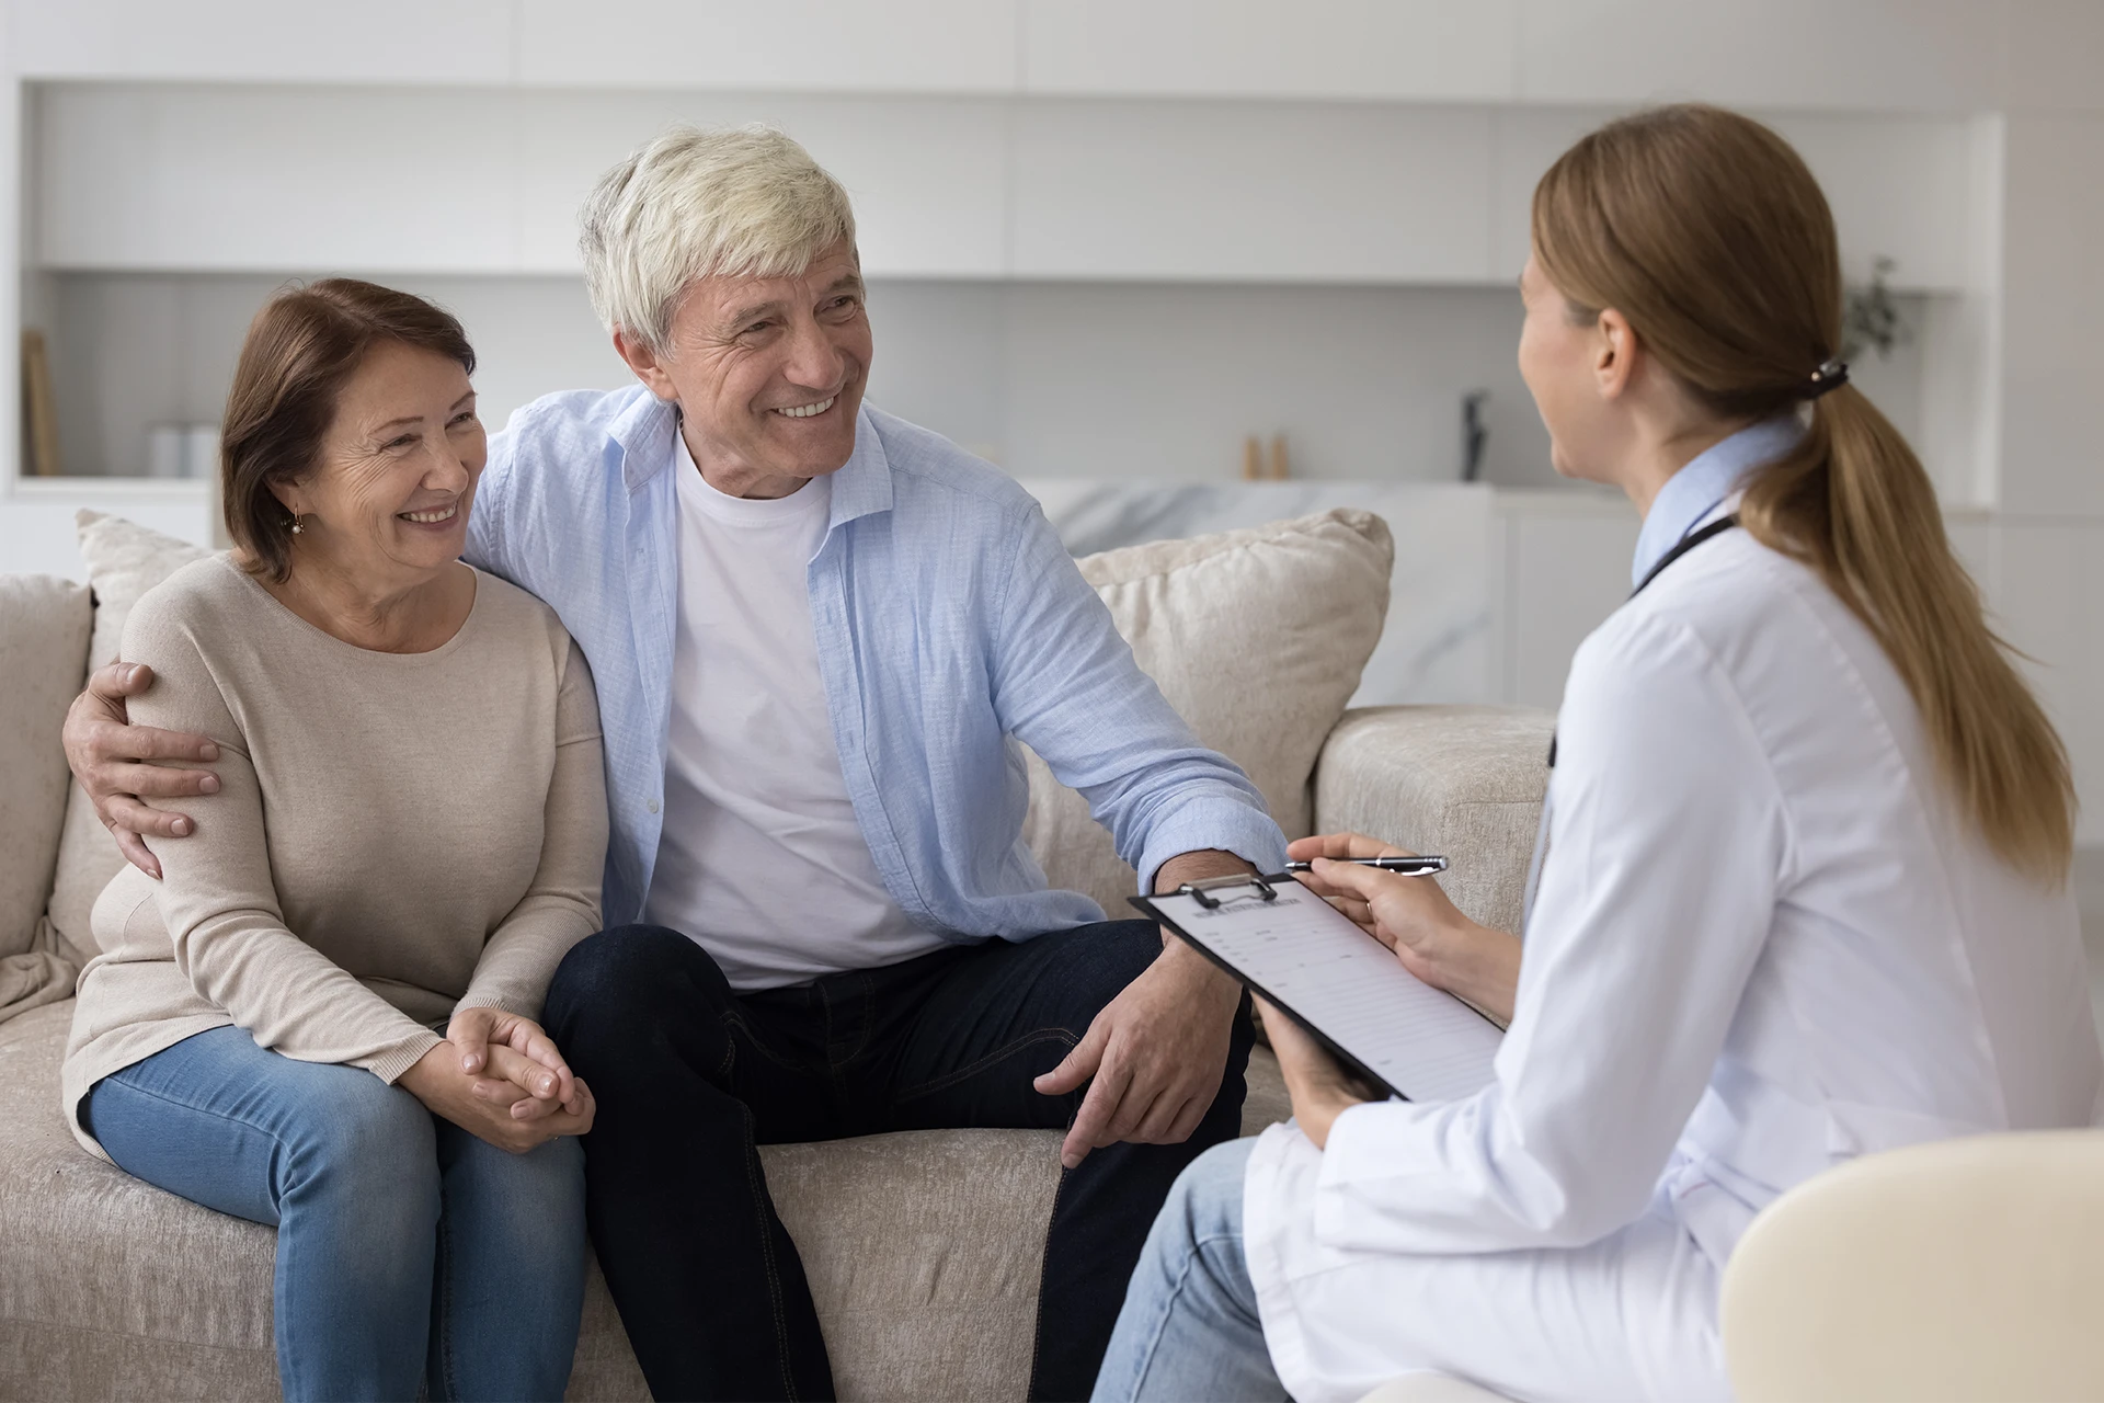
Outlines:
[[[1210,896],[1214,911],[1193,896],[1155,896],[1153,907],[1410,1100],[1460,1100],[1490,1085],[1498,1024],[1410,974],[1330,902],[1292,881],[1275,900],[1254,886]]]

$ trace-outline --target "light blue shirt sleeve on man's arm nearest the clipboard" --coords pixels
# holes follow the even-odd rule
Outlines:
[[[1286,862],[1265,795],[1203,747],[1140,671],[1035,505],[1018,517],[995,618],[993,705],[1004,730],[1088,799],[1142,892],[1185,852],[1233,852],[1262,871]]]

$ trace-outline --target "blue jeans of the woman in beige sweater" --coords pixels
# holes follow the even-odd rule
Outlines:
[[[558,1403],[585,1300],[576,1140],[511,1155],[368,1071],[198,1033],[95,1083],[128,1174],[278,1228],[288,1403]]]

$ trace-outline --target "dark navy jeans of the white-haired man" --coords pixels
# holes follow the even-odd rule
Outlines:
[[[1153,923],[1105,921],[741,995],[699,944],[659,926],[572,949],[547,995],[547,1031],[600,1100],[585,1136],[587,1222],[656,1401],[833,1397],[804,1266],[755,1144],[1065,1130],[1081,1092],[1041,1096],[1031,1081],[1159,953]],[[1088,1399],[1170,1184],[1241,1130],[1250,1041],[1237,1018],[1220,1094],[1191,1140],[1115,1144],[1063,1176],[1033,1403]]]

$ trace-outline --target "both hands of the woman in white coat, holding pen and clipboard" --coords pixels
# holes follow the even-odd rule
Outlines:
[[[1473,1003],[1500,1026],[1513,1020],[1513,995],[1519,989],[1517,936],[1471,921],[1433,877],[1340,860],[1414,854],[1363,833],[1328,833],[1296,839],[1286,856],[1311,862],[1313,869],[1300,873],[1300,883],[1395,951],[1410,974]],[[1372,1096],[1300,1024],[1262,999],[1256,1008],[1279,1058],[1300,1134],[1323,1146],[1336,1117]]]

